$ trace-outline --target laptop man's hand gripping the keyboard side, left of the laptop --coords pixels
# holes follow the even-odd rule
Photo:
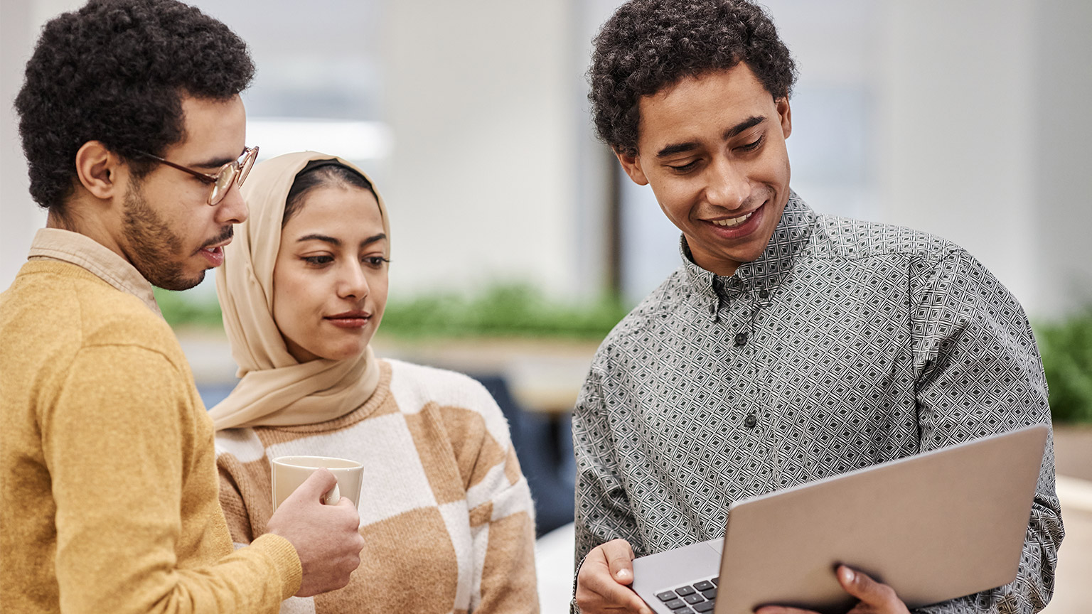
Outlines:
[[[592,548],[577,574],[577,605],[583,614],[630,612],[653,614],[629,588],[633,582],[633,548],[610,540]]]

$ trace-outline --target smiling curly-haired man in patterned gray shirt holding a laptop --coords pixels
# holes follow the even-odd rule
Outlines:
[[[723,536],[733,501],[1049,424],[1026,317],[977,260],[790,189],[795,66],[761,9],[633,0],[590,75],[600,137],[681,231],[682,268],[607,336],[577,403],[585,614],[650,612],[633,555]],[[1016,581],[926,610],[1041,610],[1061,538],[1047,440]],[[830,572],[858,612],[906,612]]]

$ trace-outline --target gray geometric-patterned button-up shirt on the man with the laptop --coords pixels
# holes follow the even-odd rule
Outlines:
[[[1023,309],[958,246],[816,215],[793,193],[762,256],[692,262],[603,342],[573,415],[577,562],[724,535],[728,505],[1049,424]],[[1032,612],[1064,531],[1048,440],[1017,580],[931,612]]]

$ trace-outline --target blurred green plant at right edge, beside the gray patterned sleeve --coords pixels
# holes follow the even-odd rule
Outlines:
[[[1034,328],[1051,387],[1051,415],[1057,422],[1092,422],[1092,307]]]

